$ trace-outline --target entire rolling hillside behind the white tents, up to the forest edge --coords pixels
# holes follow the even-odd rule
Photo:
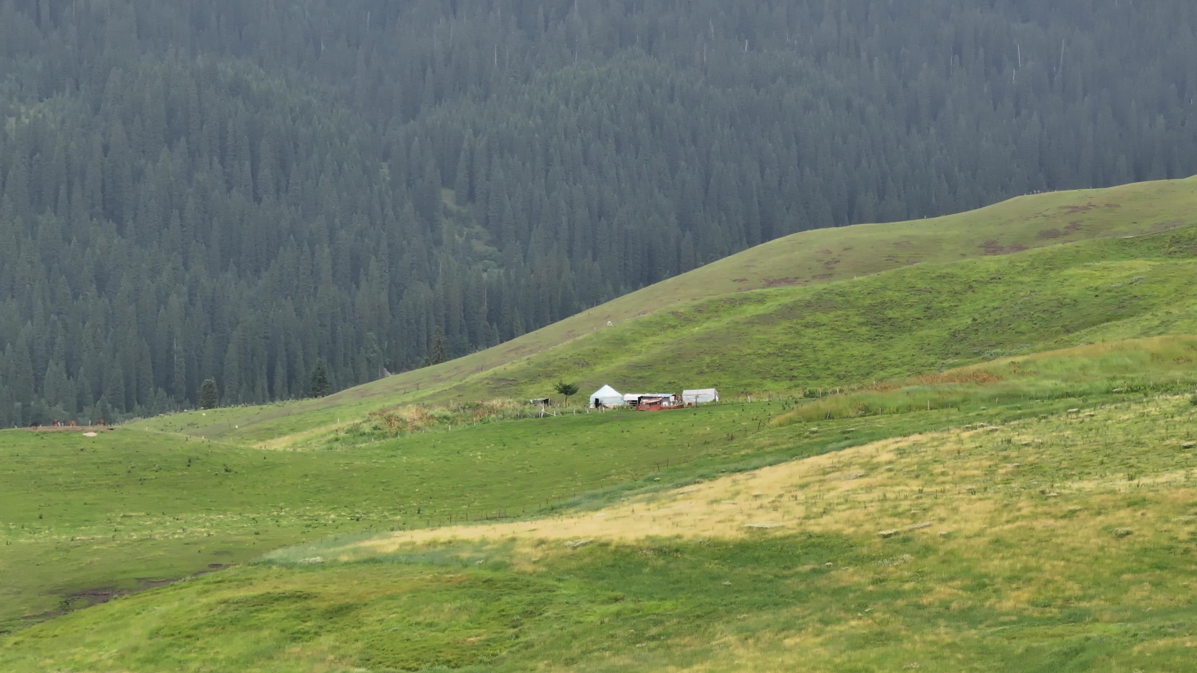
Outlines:
[[[1191,232],[1148,235],[1189,231],[1195,206],[1189,178],[797,234],[442,365],[321,400],[142,426],[261,442],[388,405],[540,396],[561,378],[583,393],[602,383],[789,393],[1184,333],[1197,329]],[[1011,292],[1019,302],[1005,301]]]

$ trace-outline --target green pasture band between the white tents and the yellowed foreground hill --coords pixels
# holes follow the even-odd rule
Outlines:
[[[887,437],[1175,392],[1195,380],[1193,366],[1178,362],[1193,342],[1123,344],[1105,348],[1104,359],[1049,353],[1028,358],[1021,378],[883,393],[905,404],[871,414],[856,411],[856,396],[877,394],[863,392],[660,413],[566,413],[359,444],[345,437],[330,444],[336,450],[299,451],[133,429],[95,438],[5,431],[0,478],[11,486],[0,492],[0,620],[17,629],[86,606],[86,592],[139,590],[328,535],[596,508]],[[1078,364],[1088,362],[1081,356],[1105,364]],[[1140,371],[1138,362],[1156,363],[1154,374],[1146,365]],[[1126,383],[1128,370],[1138,371],[1138,387]],[[795,413],[819,423],[786,428]]]

